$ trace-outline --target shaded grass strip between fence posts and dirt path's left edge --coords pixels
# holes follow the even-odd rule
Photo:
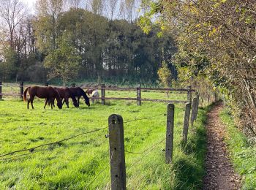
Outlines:
[[[176,179],[178,180],[176,189],[203,188],[207,145],[205,126],[207,113],[212,106],[200,109],[197,122],[189,129],[187,144],[181,142],[181,149],[184,154],[173,163],[173,170],[176,171]]]

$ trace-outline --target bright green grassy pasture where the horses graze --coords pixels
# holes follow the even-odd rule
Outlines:
[[[17,88],[5,87],[5,91]],[[106,96],[132,96],[135,92],[109,91]],[[164,93],[143,92],[143,97],[164,99]],[[171,99],[186,99],[187,94],[172,94]],[[0,154],[62,140],[108,126],[108,116],[116,113],[124,123],[125,150],[140,152],[165,138],[166,104],[108,101],[62,110],[43,109],[34,101],[34,110],[13,98],[0,102]],[[197,122],[189,129],[189,141],[181,146],[184,104],[176,104],[173,164],[165,164],[165,142],[144,154],[125,153],[127,189],[200,189],[206,153],[204,122],[207,110],[200,109]],[[152,116],[158,115],[151,118]],[[109,189],[110,168],[108,129],[0,158],[0,189]],[[28,155],[22,155],[22,154]],[[15,157],[17,156],[17,157]],[[11,158],[11,159],[8,159]],[[105,169],[105,170],[104,170]],[[97,177],[99,172],[104,170]],[[96,178],[94,180],[94,178]]]

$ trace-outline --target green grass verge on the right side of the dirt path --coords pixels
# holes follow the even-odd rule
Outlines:
[[[242,176],[242,189],[256,189],[256,145],[237,128],[227,109],[219,116],[227,126],[227,147],[236,172]]]

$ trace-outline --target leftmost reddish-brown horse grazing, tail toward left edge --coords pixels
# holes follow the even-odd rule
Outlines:
[[[46,99],[45,106],[47,102],[50,101],[50,99],[57,99],[57,106],[59,107],[59,109],[62,108],[62,103],[61,103],[61,98],[59,96],[59,93],[53,87],[29,86],[24,91],[23,99],[25,102],[26,102],[26,94],[28,91],[30,96],[30,98],[28,99],[28,106],[27,106],[28,109],[29,109],[29,103],[31,103],[31,107],[34,109],[34,106],[33,106],[34,96],[37,96],[40,99]],[[51,108],[53,109],[53,105],[51,106]]]

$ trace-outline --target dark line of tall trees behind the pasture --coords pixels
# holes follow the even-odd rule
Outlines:
[[[170,35],[157,37],[159,28],[145,34],[136,20],[110,20],[48,1],[37,1],[37,15],[27,15],[19,1],[1,2],[7,26],[1,28],[1,80],[154,81],[162,61],[176,50]],[[4,11],[15,3],[15,14],[4,20]]]

